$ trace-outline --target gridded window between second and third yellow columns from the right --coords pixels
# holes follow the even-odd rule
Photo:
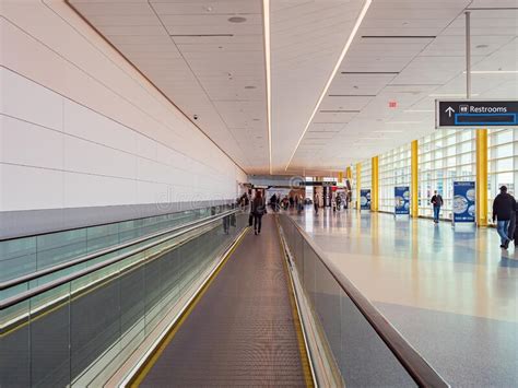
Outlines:
[[[379,210],[393,213],[396,186],[410,186],[410,144],[379,156]]]

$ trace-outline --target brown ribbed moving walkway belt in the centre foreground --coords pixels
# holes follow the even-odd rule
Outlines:
[[[132,385],[311,386],[273,216],[247,233]]]

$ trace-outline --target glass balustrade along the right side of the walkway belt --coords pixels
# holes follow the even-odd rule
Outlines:
[[[315,314],[320,330],[323,332],[325,342],[329,351],[332,353],[337,367],[339,368],[345,386],[372,387],[415,387],[415,376],[410,375],[410,369],[403,366],[403,361],[396,356],[396,353],[403,351],[409,354],[407,363],[419,365],[420,373],[431,378],[434,384],[446,386],[442,381],[440,376],[434,375],[432,368],[424,366],[425,362],[420,358],[419,354],[409,352],[412,348],[407,344],[403,338],[398,337],[397,332],[385,324],[376,324],[380,333],[384,333],[386,340],[375,330],[375,324],[372,324],[366,316],[373,321],[377,321],[373,316],[378,315],[375,308],[360,295],[357,290],[352,285],[348,285],[349,281],[341,280],[340,275],[331,272],[328,268],[332,267],[326,263],[327,258],[321,258],[306,240],[307,237],[295,226],[295,223],[287,217],[281,216],[281,225],[283,226],[283,235],[290,247],[292,256],[296,256],[294,261],[298,279],[304,287],[310,308]],[[293,232],[293,233],[292,233]],[[298,249],[299,240],[303,239],[303,249]],[[301,255],[303,259],[301,260]],[[303,271],[301,270],[303,269]],[[335,278],[339,277],[339,278]],[[345,284],[345,285],[344,285]],[[351,290],[355,295],[357,305],[348,295],[345,290]],[[360,301],[360,302],[358,302]],[[358,306],[363,306],[361,310]],[[370,313],[366,313],[370,311]],[[396,348],[401,349],[395,351],[395,345],[389,346],[390,341],[398,343]],[[399,353],[398,353],[399,354]],[[410,361],[410,357],[412,360]],[[405,364],[408,367],[408,364]]]

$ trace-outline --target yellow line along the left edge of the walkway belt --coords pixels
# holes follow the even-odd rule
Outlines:
[[[139,387],[140,384],[144,380],[145,376],[149,374],[149,372],[153,368],[154,364],[156,361],[160,358],[164,350],[168,346],[170,341],[175,338],[176,333],[180,329],[181,325],[185,322],[185,320],[189,317],[190,313],[195,309],[195,307],[198,305],[198,303],[201,301],[203,295],[205,294],[209,286],[212,284],[214,279],[217,277],[217,274],[221,272],[225,263],[228,261],[231,258],[232,254],[236,250],[236,248],[240,245],[243,239],[245,238],[246,234],[249,231],[249,226],[246,227],[245,232],[239,236],[237,239],[236,244],[228,250],[228,252],[225,255],[225,258],[222,260],[220,267],[212,273],[211,278],[205,282],[201,291],[198,293],[198,295],[191,301],[189,306],[186,308],[181,317],[178,319],[178,321],[173,326],[170,331],[167,333],[167,336],[164,337],[162,342],[160,343],[158,346],[154,350],[153,353],[151,353],[151,356],[145,361],[145,363],[140,367],[140,369],[136,373],[133,378],[130,380],[129,386],[130,387]]]

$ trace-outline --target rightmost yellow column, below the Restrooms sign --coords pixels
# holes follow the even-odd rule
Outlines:
[[[476,130],[476,225],[487,226],[487,129]]]

